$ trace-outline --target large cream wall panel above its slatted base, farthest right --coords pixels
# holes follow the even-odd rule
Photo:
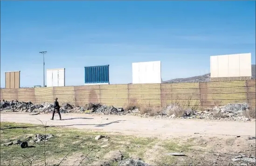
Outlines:
[[[210,57],[211,77],[251,77],[251,53]]]

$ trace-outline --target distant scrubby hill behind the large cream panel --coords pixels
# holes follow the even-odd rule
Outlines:
[[[251,65],[251,74],[252,79],[256,79],[256,65]],[[164,83],[203,83],[203,82],[210,82],[211,81],[211,74],[205,74],[202,76],[194,76],[188,78],[175,78],[172,80],[164,81]]]

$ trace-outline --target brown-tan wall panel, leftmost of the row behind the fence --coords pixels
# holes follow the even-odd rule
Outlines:
[[[19,89],[20,88],[20,71],[12,71],[5,73],[5,88]]]

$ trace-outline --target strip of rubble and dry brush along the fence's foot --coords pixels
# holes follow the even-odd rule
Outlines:
[[[0,111],[20,111],[35,113],[52,113],[54,110],[52,104],[33,104],[32,102],[1,101]],[[153,116],[155,118],[181,118],[181,119],[206,119],[206,120],[232,120],[232,121],[250,121],[243,114],[249,110],[247,103],[227,104],[221,107],[208,108],[204,111],[196,109],[183,109],[178,104],[170,104],[165,109],[160,109]],[[140,115],[140,109],[134,107],[132,110],[105,106],[101,104],[86,104],[84,107],[76,107],[69,103],[64,103],[60,108],[61,113],[86,113],[103,115]],[[143,111],[144,112],[144,111]],[[142,117],[150,117],[152,114],[145,113]]]

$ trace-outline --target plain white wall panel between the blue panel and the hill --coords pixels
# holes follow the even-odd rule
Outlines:
[[[132,83],[162,83],[161,61],[132,63]]]

